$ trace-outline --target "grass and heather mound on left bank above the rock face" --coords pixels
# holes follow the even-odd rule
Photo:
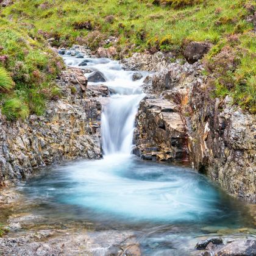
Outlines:
[[[1,112],[13,121],[29,113],[44,113],[46,99],[53,98],[52,81],[63,67],[62,60],[43,38],[32,38],[18,23],[0,18]]]

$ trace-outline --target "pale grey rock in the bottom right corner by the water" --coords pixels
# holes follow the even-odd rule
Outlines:
[[[235,240],[232,243],[226,244],[226,246],[215,251],[215,255],[218,255],[218,256],[256,255],[256,240],[255,239]]]

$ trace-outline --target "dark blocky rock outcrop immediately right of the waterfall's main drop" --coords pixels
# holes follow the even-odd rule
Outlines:
[[[133,153],[144,160],[187,160],[187,137],[179,107],[165,99],[141,101]]]

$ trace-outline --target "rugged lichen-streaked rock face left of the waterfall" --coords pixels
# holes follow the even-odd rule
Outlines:
[[[63,97],[49,101],[44,116],[10,123],[0,114],[0,182],[26,177],[34,168],[60,160],[100,158],[101,96],[86,88],[79,69],[66,69],[57,84]]]

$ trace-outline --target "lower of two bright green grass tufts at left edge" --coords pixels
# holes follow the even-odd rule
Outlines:
[[[2,104],[2,114],[9,121],[15,121],[18,118],[25,119],[29,116],[29,107],[18,98],[7,99]]]

